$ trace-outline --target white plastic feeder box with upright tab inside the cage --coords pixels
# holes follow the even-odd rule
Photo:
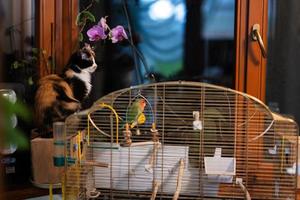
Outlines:
[[[211,182],[232,183],[235,175],[235,158],[221,157],[222,148],[216,148],[213,157],[204,157],[205,174]]]

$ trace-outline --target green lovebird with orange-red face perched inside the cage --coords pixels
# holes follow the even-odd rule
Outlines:
[[[146,121],[144,109],[146,107],[145,99],[136,99],[128,108],[127,123],[130,128],[134,128],[138,124],[143,124]]]

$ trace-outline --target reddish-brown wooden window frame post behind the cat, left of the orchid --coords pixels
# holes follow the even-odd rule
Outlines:
[[[78,45],[78,0],[36,0],[37,47],[45,52],[38,66],[39,77],[60,73]],[[45,60],[53,60],[46,66]]]

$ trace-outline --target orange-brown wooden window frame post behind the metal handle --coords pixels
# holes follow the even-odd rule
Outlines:
[[[260,25],[262,39],[266,42],[268,0],[236,0],[235,89],[264,102],[267,62],[258,43],[251,38],[254,24]]]

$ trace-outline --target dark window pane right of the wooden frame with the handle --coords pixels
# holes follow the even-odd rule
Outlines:
[[[300,123],[299,1],[269,1],[266,103]]]

